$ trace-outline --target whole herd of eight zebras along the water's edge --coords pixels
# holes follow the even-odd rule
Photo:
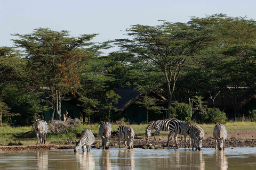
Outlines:
[[[177,118],[169,118],[166,120],[158,120],[158,121],[153,121],[151,122],[147,128],[146,128],[146,140],[149,139],[151,136],[151,131],[156,130],[154,133],[154,138],[156,140],[156,134],[159,135],[159,140],[161,140],[160,137],[160,131],[169,131],[170,133],[168,134],[167,137],[167,145],[169,145],[170,140],[172,140],[172,137],[174,137],[175,141],[175,146],[179,148],[177,138],[178,135],[183,135],[185,139],[185,148],[187,147],[187,136],[189,135],[189,145],[188,148],[192,147],[192,150],[201,150],[202,148],[202,141],[204,139],[204,130],[196,125],[193,124],[191,125],[191,122],[184,122],[180,121]],[[35,132],[37,136],[37,143],[38,145],[38,140],[39,144],[43,144],[46,141],[46,134],[47,134],[48,128],[47,128],[47,123],[44,120],[36,120],[35,123]],[[102,139],[102,148],[104,149],[109,149],[109,140],[111,137],[111,134],[113,133],[113,129],[111,128],[111,124],[108,122],[102,122],[100,124],[99,128],[99,135]],[[117,128],[117,137],[118,137],[118,145],[119,148],[121,148],[120,142],[121,140],[125,141],[125,147],[128,149],[133,149],[133,140],[134,140],[134,131],[131,126],[127,125],[120,125]],[[172,137],[171,137],[172,136]],[[170,139],[171,137],[171,139]],[[213,137],[215,140],[215,149],[225,149],[225,140],[227,138],[227,130],[224,125],[222,124],[217,124],[214,126],[213,129]],[[76,146],[74,152],[77,152],[81,149],[83,151],[86,150],[90,151],[91,145],[94,142],[94,135],[91,130],[86,129],[82,132],[80,139],[77,141],[76,140]]]

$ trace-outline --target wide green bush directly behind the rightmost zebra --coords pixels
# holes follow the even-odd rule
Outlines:
[[[201,114],[202,115],[202,114]],[[227,121],[226,113],[218,108],[208,108],[206,114],[202,115],[204,123],[223,124]]]

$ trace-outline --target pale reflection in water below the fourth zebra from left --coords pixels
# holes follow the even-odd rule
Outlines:
[[[117,164],[119,169],[135,169],[134,151],[119,150]]]

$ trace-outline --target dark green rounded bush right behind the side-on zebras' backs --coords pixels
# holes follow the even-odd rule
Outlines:
[[[179,120],[186,121],[186,122],[191,121],[191,116],[193,114],[193,111],[188,104],[179,103],[175,107],[175,111],[178,116],[177,118]]]

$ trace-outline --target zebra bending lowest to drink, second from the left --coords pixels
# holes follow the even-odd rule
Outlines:
[[[87,146],[87,151],[90,151],[91,145],[94,142],[94,135],[90,129],[86,129],[82,132],[80,139],[77,141],[76,140],[76,147],[74,152],[78,152],[83,148],[83,152],[86,149]]]

